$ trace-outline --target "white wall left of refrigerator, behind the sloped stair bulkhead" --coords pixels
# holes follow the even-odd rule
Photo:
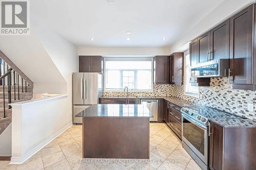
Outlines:
[[[61,76],[65,79],[65,86],[55,84],[56,88],[65,87],[68,94],[66,112],[70,114],[69,120],[72,121],[72,73],[78,72],[78,55],[75,45],[49,30],[42,30],[34,25],[35,34],[40,39],[47,54],[51,57]]]

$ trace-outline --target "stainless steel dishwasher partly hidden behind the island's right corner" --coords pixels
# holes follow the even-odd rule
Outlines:
[[[148,110],[151,111],[154,117],[150,118],[151,122],[157,122],[158,115],[158,100],[157,99],[142,99],[140,103],[146,105]]]

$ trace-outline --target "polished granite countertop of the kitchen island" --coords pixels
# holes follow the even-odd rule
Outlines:
[[[153,117],[146,105],[96,104],[81,111],[76,117]]]

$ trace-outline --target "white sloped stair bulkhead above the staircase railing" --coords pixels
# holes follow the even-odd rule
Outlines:
[[[34,82],[35,93],[66,93],[59,88],[65,79],[34,34],[0,36],[0,50]]]

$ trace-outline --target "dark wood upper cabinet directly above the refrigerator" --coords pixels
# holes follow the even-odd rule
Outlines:
[[[103,72],[103,57],[79,56],[79,72]]]

